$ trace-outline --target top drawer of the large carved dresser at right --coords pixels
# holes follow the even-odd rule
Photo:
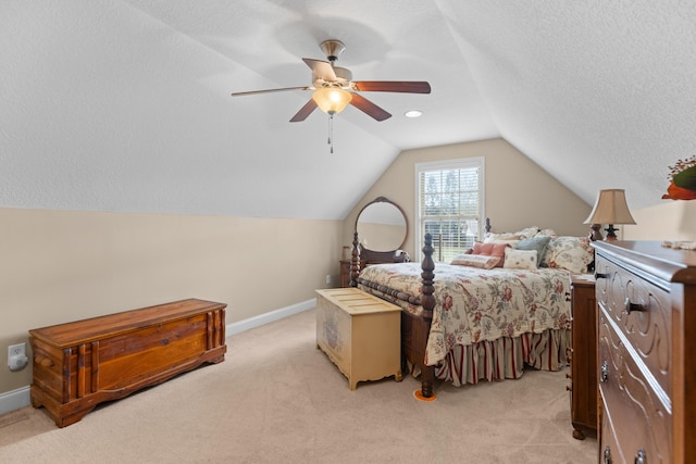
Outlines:
[[[626,338],[659,384],[672,396],[670,293],[645,277],[598,255],[596,291],[599,306]]]

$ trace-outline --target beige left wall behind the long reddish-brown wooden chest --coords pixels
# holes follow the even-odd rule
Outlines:
[[[339,221],[0,209],[0,393],[32,381],[5,348],[32,328],[191,297],[232,323],[338,281]]]

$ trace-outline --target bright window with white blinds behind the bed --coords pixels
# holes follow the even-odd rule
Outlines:
[[[473,247],[482,233],[484,159],[468,158],[415,165],[418,253],[433,237],[435,261],[449,262]]]

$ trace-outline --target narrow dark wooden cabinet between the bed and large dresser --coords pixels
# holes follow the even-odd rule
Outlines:
[[[572,338],[569,355],[573,437],[597,436],[597,301],[595,279],[575,275],[572,285]]]

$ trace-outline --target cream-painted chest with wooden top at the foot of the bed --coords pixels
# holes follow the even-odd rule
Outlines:
[[[401,310],[357,288],[316,290],[316,346],[359,381],[401,374]]]

